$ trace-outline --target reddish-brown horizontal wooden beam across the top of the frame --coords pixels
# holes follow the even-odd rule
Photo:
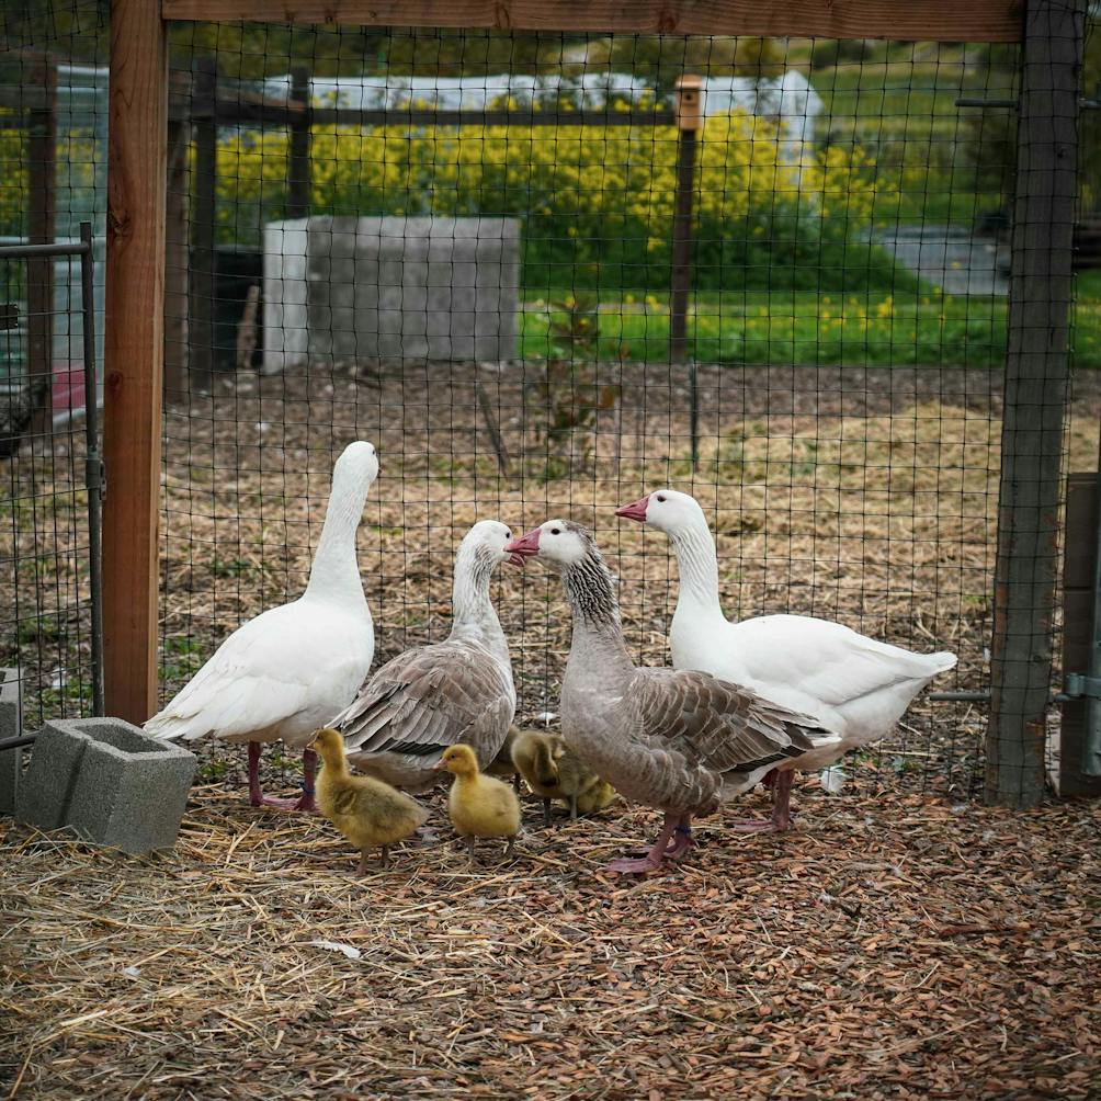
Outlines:
[[[165,19],[1020,42],[1022,0],[161,0]]]

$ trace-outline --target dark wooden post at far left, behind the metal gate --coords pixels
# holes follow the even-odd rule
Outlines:
[[[31,244],[51,244],[56,222],[57,193],[57,66],[48,54],[30,73],[31,87],[44,91],[41,106],[28,112],[26,236]],[[26,374],[34,418],[31,430],[48,433],[53,414],[54,382],[54,258],[26,262]]]

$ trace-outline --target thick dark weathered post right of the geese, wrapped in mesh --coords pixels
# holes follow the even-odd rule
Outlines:
[[[988,803],[1044,795],[1084,0],[1029,0],[1017,126]]]

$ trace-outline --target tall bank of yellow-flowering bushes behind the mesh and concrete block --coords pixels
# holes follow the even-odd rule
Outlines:
[[[831,148],[786,163],[775,126],[707,120],[697,154],[695,284],[855,291],[893,263],[866,243],[874,164]],[[671,127],[316,128],[314,214],[505,215],[524,222],[524,282],[668,285],[677,132]],[[218,151],[219,225],[255,242],[282,217],[287,139],[240,131]]]

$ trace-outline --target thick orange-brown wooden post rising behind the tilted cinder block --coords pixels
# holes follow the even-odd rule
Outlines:
[[[107,713],[131,722],[156,708],[166,87],[159,6],[111,0],[103,664]]]

